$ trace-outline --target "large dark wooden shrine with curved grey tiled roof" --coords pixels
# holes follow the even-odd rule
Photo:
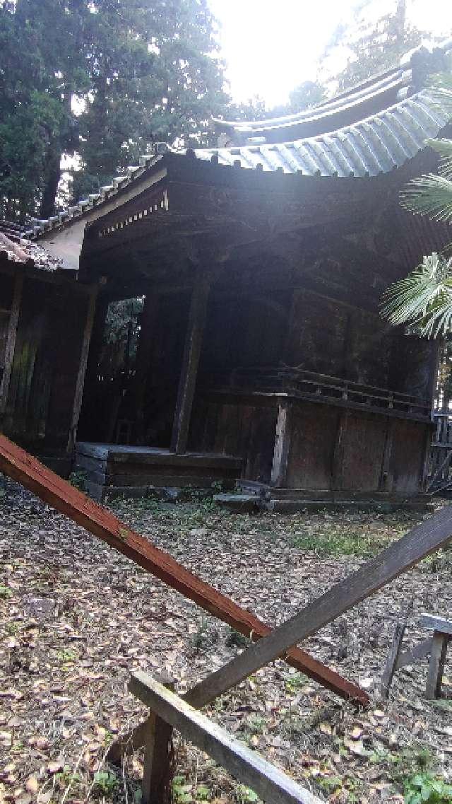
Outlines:
[[[426,76],[450,47],[291,117],[217,121],[218,147],[161,146],[35,221],[30,236],[96,289],[93,326],[88,311],[63,342],[79,338],[83,373],[92,328],[77,463],[93,494],[238,479],[287,505],[417,499],[436,347],[379,303],[450,240],[399,204],[436,167],[426,139],[452,113]],[[145,302],[118,396],[99,355],[108,305],[132,297]],[[65,384],[61,411],[78,410],[74,394]],[[72,417],[69,450],[74,432]]]

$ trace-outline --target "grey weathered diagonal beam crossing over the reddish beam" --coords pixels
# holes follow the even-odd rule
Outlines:
[[[340,614],[373,595],[390,580],[406,572],[430,553],[446,546],[452,539],[452,513],[445,507],[438,514],[398,539],[375,559],[364,564],[271,634],[244,650],[220,670],[192,687],[185,699],[201,707],[234,687],[273,659],[283,657],[296,642],[316,634]]]

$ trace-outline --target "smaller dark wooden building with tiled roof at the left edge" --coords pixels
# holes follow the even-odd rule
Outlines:
[[[96,286],[0,223],[2,431],[62,474],[71,468],[95,304]]]

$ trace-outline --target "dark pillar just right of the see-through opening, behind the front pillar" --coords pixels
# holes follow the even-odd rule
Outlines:
[[[145,400],[151,354],[153,350],[153,329],[157,315],[157,293],[146,293],[145,305],[140,319],[140,338],[136,347],[135,363],[135,410],[136,443],[143,445],[145,433]]]

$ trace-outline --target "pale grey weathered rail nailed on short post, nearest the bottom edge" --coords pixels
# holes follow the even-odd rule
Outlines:
[[[320,804],[320,798],[300,787],[283,771],[275,768],[255,751],[230,736],[189,706],[178,695],[163,687],[150,675],[132,674],[129,690],[143,704],[177,728],[186,740],[209,754],[219,765],[259,795],[268,804]]]

